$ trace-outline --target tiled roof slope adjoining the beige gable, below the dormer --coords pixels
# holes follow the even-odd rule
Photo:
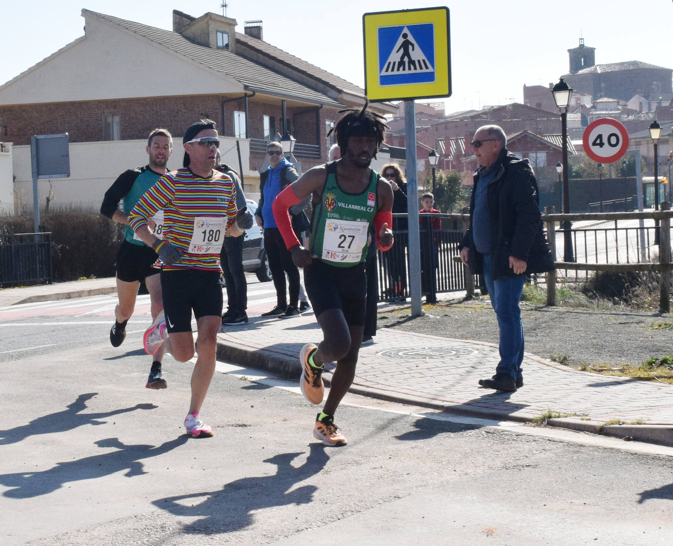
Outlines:
[[[160,44],[174,52],[240,81],[250,91],[258,91],[266,95],[294,98],[304,102],[326,104],[329,106],[343,106],[327,95],[324,95],[306,85],[297,83],[277,72],[273,72],[257,63],[236,55],[225,49],[212,49],[195,44],[177,32],[163,30],[126,19],[104,15],[87,9],[82,10],[86,15],[104,19],[112,24],[130,30],[156,44]]]

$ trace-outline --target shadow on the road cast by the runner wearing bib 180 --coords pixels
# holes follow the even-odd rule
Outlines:
[[[5,487],[13,488],[3,493],[9,498],[31,498],[46,495],[63,487],[65,483],[79,481],[81,479],[95,479],[112,475],[121,470],[126,470],[126,477],[145,474],[142,459],[163,455],[172,449],[184,444],[188,436],[182,436],[164,442],[155,447],[150,445],[125,445],[117,438],[106,438],[94,442],[99,447],[112,447],[117,451],[93,455],[77,461],[56,463],[45,471],[40,472],[16,472],[0,474],[0,483]]]

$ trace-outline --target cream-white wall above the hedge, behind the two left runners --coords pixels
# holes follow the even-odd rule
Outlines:
[[[220,151],[223,153],[223,162],[238,171],[236,140],[220,137]],[[247,177],[251,180],[256,178],[259,184],[258,173],[249,169],[249,142],[240,139],[239,142],[246,186],[249,182]],[[38,180],[40,206],[44,206],[46,197],[51,193],[51,204],[85,203],[98,210],[105,192],[122,172],[147,165],[146,145],[145,140],[70,143],[70,176],[69,178]],[[16,177],[13,187],[15,204],[17,209],[22,206],[30,208],[33,203],[30,145],[14,146],[12,151],[13,161],[10,168],[13,168],[13,175]],[[182,167],[183,155],[182,139],[178,138],[174,141],[174,150],[168,160],[168,168],[174,170]],[[1,165],[2,157],[0,156],[0,169]],[[1,172],[0,170],[0,180],[3,180]],[[11,170],[9,180],[11,180]],[[0,199],[2,199],[1,194]]]

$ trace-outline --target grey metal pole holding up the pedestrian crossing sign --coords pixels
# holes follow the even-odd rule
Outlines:
[[[406,203],[409,210],[409,294],[411,316],[423,314],[421,305],[421,239],[419,229],[418,172],[416,168],[416,104],[404,101],[404,147],[406,148]]]

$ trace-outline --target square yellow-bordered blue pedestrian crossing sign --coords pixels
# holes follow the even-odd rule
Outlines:
[[[448,7],[365,13],[362,21],[370,101],[451,95]]]

